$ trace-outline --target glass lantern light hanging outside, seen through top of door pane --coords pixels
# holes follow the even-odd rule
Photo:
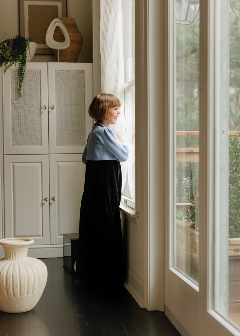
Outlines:
[[[176,23],[190,25],[199,12],[200,0],[175,0]]]

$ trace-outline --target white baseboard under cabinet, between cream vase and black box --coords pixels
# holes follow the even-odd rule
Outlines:
[[[63,244],[29,246],[28,256],[32,258],[61,258]]]

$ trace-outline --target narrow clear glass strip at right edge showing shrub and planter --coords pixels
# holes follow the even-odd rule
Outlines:
[[[229,318],[240,326],[240,2],[229,6]]]

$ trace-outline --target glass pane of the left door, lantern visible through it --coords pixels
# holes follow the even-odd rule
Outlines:
[[[198,283],[199,1],[175,0],[172,14],[175,147],[172,266]]]

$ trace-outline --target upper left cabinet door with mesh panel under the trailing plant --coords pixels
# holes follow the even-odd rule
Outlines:
[[[4,154],[48,154],[47,63],[27,63],[21,98],[17,68],[3,78]]]

